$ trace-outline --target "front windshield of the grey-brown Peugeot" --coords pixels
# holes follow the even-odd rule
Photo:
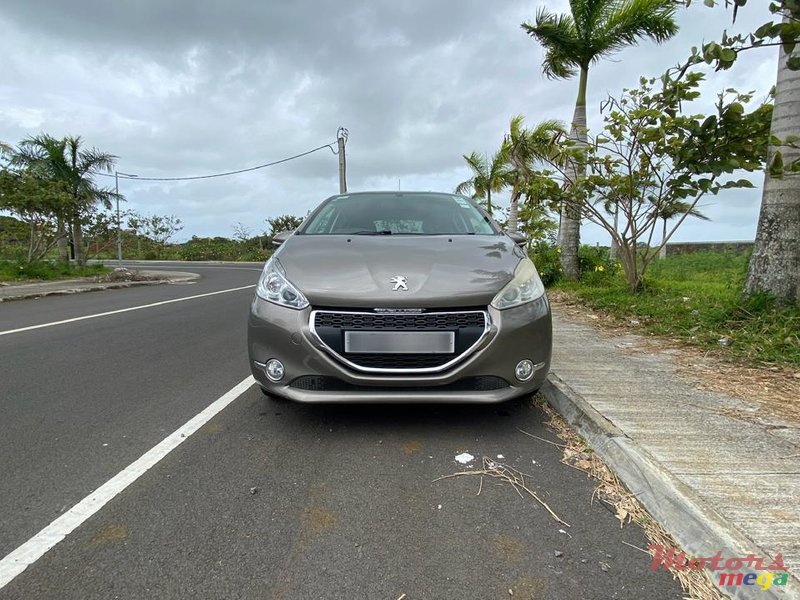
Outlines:
[[[449,194],[352,194],[322,204],[301,235],[496,235],[481,210]]]

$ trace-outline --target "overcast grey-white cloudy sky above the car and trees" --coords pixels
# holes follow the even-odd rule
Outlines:
[[[548,81],[542,50],[519,24],[566,0],[0,0],[0,141],[46,132],[83,136],[141,177],[194,176],[251,167],[334,142],[347,144],[350,190],[451,191],[469,176],[463,154],[493,152],[512,115],[568,121],[576,81]],[[608,94],[658,75],[693,45],[769,20],[750,2],[730,13],[698,0],[680,34],[597,65],[589,125]],[[746,53],[713,74],[713,94],[775,82],[774,49]],[[305,215],[338,192],[327,149],[233,177],[180,183],[122,181],[127,207],[172,214],[179,239],[253,233],[279,214]],[[763,177],[753,181],[760,188]],[[113,179],[109,179],[109,185]],[[705,202],[711,223],[680,240],[752,239],[760,189]],[[604,242],[591,227],[584,241]]]

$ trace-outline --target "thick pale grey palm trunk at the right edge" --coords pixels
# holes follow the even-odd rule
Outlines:
[[[780,48],[771,134],[781,140],[800,136],[800,71],[790,71],[787,58]],[[777,150],[770,148],[770,161]],[[785,165],[800,158],[800,150],[780,151]],[[746,296],[769,293],[782,305],[800,299],[800,174],[775,179],[767,171],[744,291]]]

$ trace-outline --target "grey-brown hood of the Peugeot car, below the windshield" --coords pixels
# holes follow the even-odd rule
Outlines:
[[[485,306],[524,256],[499,235],[293,235],[276,253],[313,306],[353,308]]]

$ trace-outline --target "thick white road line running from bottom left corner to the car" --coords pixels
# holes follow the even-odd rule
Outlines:
[[[126,487],[158,464],[167,454],[185,442],[190,435],[216,416],[222,409],[244,394],[255,383],[249,376],[236,387],[225,392],[203,412],[193,417],[158,445],[144,453],[138,460],[109,479],[94,492],[34,535],[3,560],[0,560],[0,589],[8,585],[29,565],[39,560],[53,546],[75,531],[84,521],[99,511]]]

